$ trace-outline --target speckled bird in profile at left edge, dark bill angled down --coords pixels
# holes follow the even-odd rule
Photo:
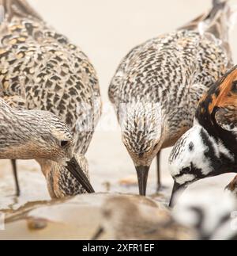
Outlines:
[[[12,109],[0,98],[0,122],[0,159],[56,162],[65,166],[88,193],[94,192],[78,164],[80,159],[74,156],[70,129],[54,114],[41,110]],[[50,183],[53,178],[49,177],[47,181],[49,188],[54,189]]]

